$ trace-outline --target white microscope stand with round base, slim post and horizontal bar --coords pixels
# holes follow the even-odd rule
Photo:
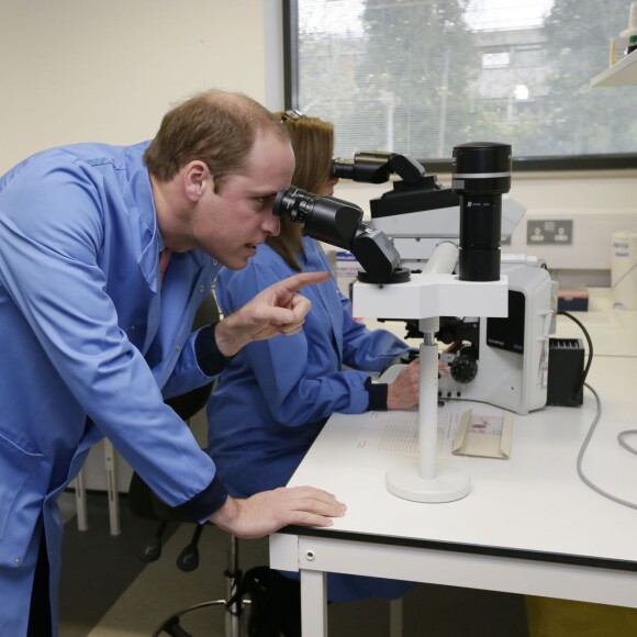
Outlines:
[[[454,252],[454,249],[456,252]],[[457,258],[452,244],[440,244],[425,271],[405,283],[354,284],[357,316],[418,320],[424,340],[420,348],[418,461],[388,471],[387,489],[404,500],[451,502],[471,490],[469,476],[457,467],[437,463],[439,316],[506,316],[507,280],[460,281],[452,271]]]

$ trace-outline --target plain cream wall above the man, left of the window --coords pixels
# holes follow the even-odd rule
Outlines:
[[[0,174],[49,146],[149,138],[206,88],[280,109],[278,14],[279,0],[2,0]]]

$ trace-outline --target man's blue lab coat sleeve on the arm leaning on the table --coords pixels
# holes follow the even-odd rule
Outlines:
[[[203,499],[213,511],[225,499],[214,465],[164,404],[105,292],[98,255],[112,228],[99,177],[47,163],[30,172],[32,188],[8,183],[3,191],[0,283],[75,400],[149,487],[168,504],[198,510]]]

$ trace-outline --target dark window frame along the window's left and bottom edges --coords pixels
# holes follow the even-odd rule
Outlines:
[[[299,108],[299,23],[297,0],[282,0],[283,98],[286,109]],[[592,78],[591,78],[592,79]],[[637,89],[636,89],[637,90]],[[417,158],[431,172],[450,172],[451,158]],[[513,157],[515,172],[596,172],[634,170],[637,153]]]

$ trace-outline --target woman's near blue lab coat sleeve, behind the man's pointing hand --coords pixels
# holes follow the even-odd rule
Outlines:
[[[221,277],[220,305],[225,313],[233,312],[287,275],[252,264],[230,278]],[[342,369],[334,344],[312,312],[299,334],[250,343],[238,355],[247,358],[272,417],[287,426],[327,418],[334,412],[362,413],[369,406],[365,387],[369,375]],[[351,333],[358,338],[358,329]]]

